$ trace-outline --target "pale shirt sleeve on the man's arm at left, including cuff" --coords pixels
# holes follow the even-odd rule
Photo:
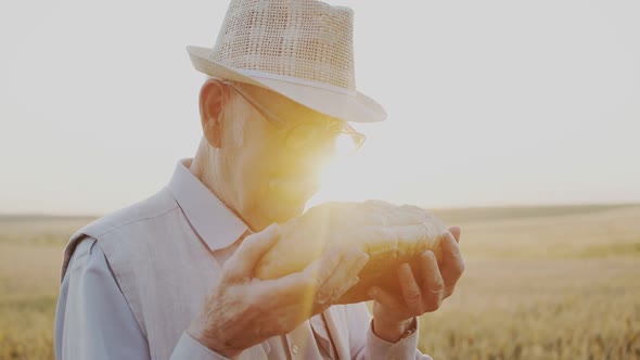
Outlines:
[[[95,239],[82,240],[64,275],[55,311],[57,360],[151,359],[138,325]],[[183,333],[172,359],[226,359]]]

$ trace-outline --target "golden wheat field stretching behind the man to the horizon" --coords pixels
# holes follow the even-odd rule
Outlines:
[[[466,270],[420,323],[435,359],[640,359],[640,205],[434,210]],[[0,359],[52,359],[62,249],[90,218],[0,217]]]

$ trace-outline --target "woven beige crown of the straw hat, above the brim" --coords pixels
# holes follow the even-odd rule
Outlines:
[[[353,20],[313,0],[232,0],[209,60],[353,92]]]

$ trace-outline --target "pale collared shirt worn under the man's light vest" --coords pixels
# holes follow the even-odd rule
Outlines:
[[[206,243],[212,255],[223,263],[238,247],[247,226],[230,211],[180,162],[168,184],[192,231]],[[162,232],[150,234],[163,236]],[[55,314],[57,359],[151,359],[149,344],[95,239],[77,246],[63,279]],[[430,359],[417,350],[417,332],[391,344],[375,336],[363,303],[347,305],[349,348],[355,358]],[[269,359],[328,359],[334,356],[327,343],[322,318],[316,316],[290,334],[274,336],[261,345]],[[324,336],[322,336],[324,335]],[[189,334],[183,333],[171,359],[223,359]]]

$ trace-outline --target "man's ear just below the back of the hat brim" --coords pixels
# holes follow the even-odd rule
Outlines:
[[[214,147],[220,147],[222,143],[220,113],[222,112],[226,90],[226,85],[217,79],[208,79],[200,89],[202,133],[209,145]]]

